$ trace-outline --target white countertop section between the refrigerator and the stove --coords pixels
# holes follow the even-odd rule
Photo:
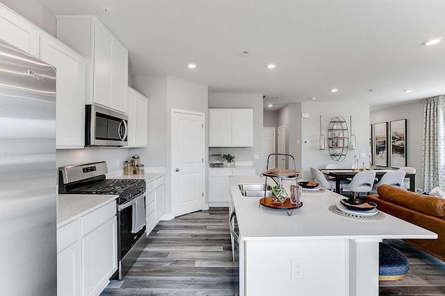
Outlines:
[[[102,207],[119,195],[106,194],[58,194],[57,195],[57,227],[62,227],[76,220],[89,211]]]

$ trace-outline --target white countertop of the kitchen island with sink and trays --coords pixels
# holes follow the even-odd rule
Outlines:
[[[260,176],[230,177],[231,195],[242,240],[437,238],[434,232],[388,214],[382,220],[357,220],[334,214],[328,207],[338,204],[344,197],[332,191],[302,193],[302,207],[294,209],[293,214],[288,216],[284,210],[260,206],[259,198],[245,197],[238,189],[240,183],[264,182],[265,177]],[[272,180],[270,184],[275,185]],[[283,180],[288,193],[290,184],[294,183]]]

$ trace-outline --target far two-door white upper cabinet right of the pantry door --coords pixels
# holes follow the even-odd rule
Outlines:
[[[253,109],[209,109],[210,147],[252,147]]]

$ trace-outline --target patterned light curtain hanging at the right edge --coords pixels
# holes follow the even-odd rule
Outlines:
[[[423,108],[423,191],[445,189],[445,96],[426,98]]]

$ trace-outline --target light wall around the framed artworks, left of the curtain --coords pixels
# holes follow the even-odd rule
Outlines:
[[[416,188],[423,188],[421,171],[424,105],[425,101],[421,100],[410,104],[373,111],[369,116],[370,123],[387,122],[388,134],[390,121],[407,119],[407,166],[416,168]],[[388,159],[388,165],[389,164],[390,162]]]

